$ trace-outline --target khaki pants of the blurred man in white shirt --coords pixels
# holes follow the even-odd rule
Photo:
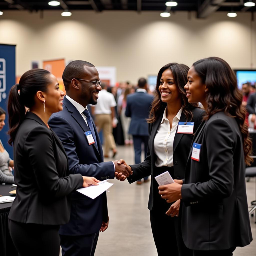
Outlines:
[[[113,136],[113,127],[112,127],[112,118],[111,115],[102,114],[102,115],[95,115],[95,122],[97,124],[98,132],[103,130],[104,136],[104,154],[108,155],[110,149],[116,148],[115,140]]]

